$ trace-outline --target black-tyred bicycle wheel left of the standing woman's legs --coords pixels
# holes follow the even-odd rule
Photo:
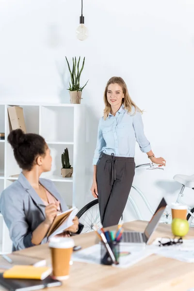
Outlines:
[[[78,213],[79,221],[84,225],[81,233],[94,231],[93,226],[100,226],[98,199],[86,204]]]

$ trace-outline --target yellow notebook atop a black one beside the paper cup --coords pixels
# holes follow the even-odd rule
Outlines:
[[[39,279],[49,276],[52,269],[49,267],[34,267],[28,265],[15,265],[3,273],[3,278],[10,279]]]

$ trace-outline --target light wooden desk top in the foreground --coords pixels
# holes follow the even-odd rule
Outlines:
[[[144,231],[145,221],[124,224],[128,230]],[[153,235],[172,236],[171,226],[161,224]],[[190,229],[185,238],[194,238],[194,229]],[[94,232],[74,237],[76,245],[82,248],[96,242]],[[48,244],[31,247],[20,253],[50,260]],[[152,255],[127,269],[110,266],[74,262],[70,278],[62,287],[49,288],[65,291],[187,291],[194,287],[194,263],[185,263],[174,259]],[[2,290],[2,289],[0,289]]]

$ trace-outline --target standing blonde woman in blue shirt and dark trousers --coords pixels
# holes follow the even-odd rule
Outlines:
[[[156,158],[144,134],[142,111],[131,100],[127,85],[112,77],[104,92],[104,116],[97,131],[92,194],[99,199],[103,227],[118,224],[125,209],[135,174],[135,142],[151,162],[165,166]]]

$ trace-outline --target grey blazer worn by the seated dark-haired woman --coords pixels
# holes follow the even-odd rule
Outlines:
[[[54,183],[44,178],[40,178],[39,181],[60,201],[61,210],[67,210],[68,207]],[[0,212],[9,229],[13,251],[33,246],[32,232],[46,218],[45,205],[22,173],[0,195]],[[47,241],[48,239],[44,238],[41,244]]]

